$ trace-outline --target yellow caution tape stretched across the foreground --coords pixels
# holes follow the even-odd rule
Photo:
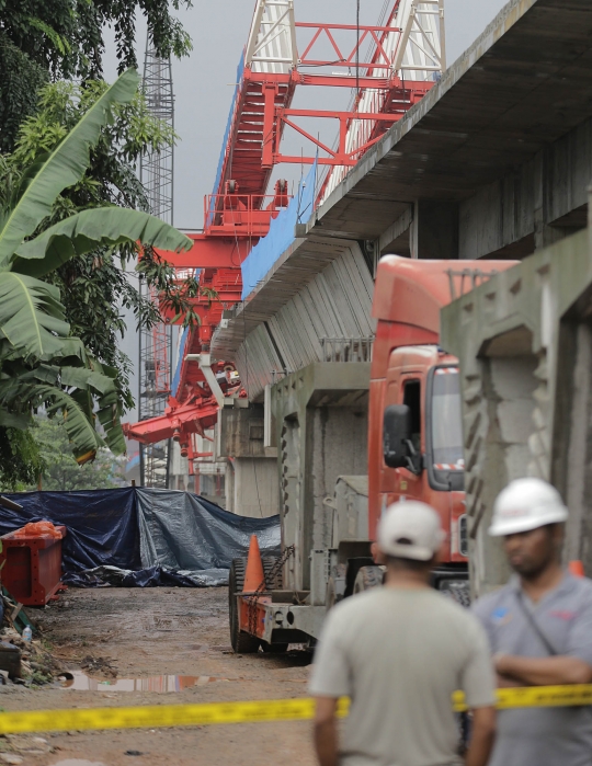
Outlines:
[[[547,708],[592,705],[592,684],[579,686],[531,686],[498,689],[498,709]],[[339,700],[338,714],[346,716],[348,699]],[[462,691],[453,695],[453,707],[467,709]],[[88,708],[0,713],[0,734],[96,729],[162,729],[204,727],[215,723],[261,723],[310,720],[314,699],[266,699],[249,702],[202,705],[147,705],[129,708]]]

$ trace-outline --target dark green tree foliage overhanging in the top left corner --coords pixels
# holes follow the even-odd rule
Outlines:
[[[138,9],[148,21],[158,55],[186,55],[191,39],[170,12],[183,7],[190,8],[191,0],[0,0],[0,150],[12,149],[19,111],[23,116],[32,113],[39,77],[89,80],[102,76],[107,26],[115,30],[119,72],[137,67]],[[8,79],[3,60],[12,64]]]

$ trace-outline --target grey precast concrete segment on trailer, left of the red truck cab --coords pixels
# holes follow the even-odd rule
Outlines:
[[[367,472],[368,385],[368,363],[317,363],[272,388],[286,587],[308,590],[310,551],[331,544],[338,477]]]

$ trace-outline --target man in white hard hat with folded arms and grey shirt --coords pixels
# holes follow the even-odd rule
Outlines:
[[[489,636],[500,685],[592,682],[592,582],[560,564],[568,510],[540,479],[512,481],[489,534],[503,538],[515,572],[474,611]],[[530,708],[499,714],[490,766],[590,766],[592,708]]]

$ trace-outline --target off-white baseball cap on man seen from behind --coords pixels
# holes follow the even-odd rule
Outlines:
[[[400,559],[430,561],[445,537],[437,513],[415,500],[390,505],[378,525],[380,550]]]

